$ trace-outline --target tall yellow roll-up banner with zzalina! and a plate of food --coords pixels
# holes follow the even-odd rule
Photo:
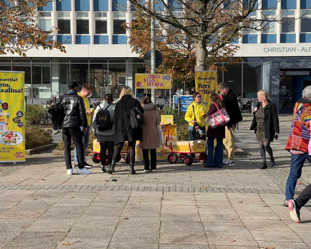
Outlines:
[[[25,162],[25,73],[0,71],[0,163]]]

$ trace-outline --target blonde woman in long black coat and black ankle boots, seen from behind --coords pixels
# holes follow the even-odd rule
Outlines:
[[[107,171],[108,174],[112,174],[114,172],[116,160],[120,155],[125,141],[128,141],[128,148],[130,151],[130,175],[136,174],[134,170],[135,145],[137,140],[142,141],[142,127],[130,129],[131,107],[137,107],[142,115],[144,114],[144,109],[140,105],[139,101],[134,99],[134,92],[130,87],[126,86],[123,87],[114,109],[114,145],[116,148],[114,149],[114,155],[112,157],[110,168]]]

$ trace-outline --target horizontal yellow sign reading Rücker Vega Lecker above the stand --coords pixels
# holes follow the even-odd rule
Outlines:
[[[171,89],[172,75],[136,73],[135,87],[138,89]]]

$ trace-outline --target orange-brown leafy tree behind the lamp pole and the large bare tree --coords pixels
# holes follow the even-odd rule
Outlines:
[[[139,10],[135,13],[138,12]],[[150,17],[138,16],[131,23],[123,25],[130,31],[129,45],[133,52],[139,54],[140,59],[143,59],[146,51],[150,49],[150,24]],[[174,83],[183,85],[183,81],[185,81],[189,91],[192,88],[192,84],[189,83],[194,80],[196,46],[193,40],[183,35],[181,31],[170,34],[169,32],[172,31],[170,29],[164,33],[165,28],[165,23],[159,21],[156,24],[156,49],[163,57],[163,62],[156,71],[157,73],[171,74]],[[223,49],[222,54],[218,51],[210,53],[206,60],[207,70],[224,71],[225,67],[219,66],[216,62],[238,63],[240,58],[233,57],[237,49],[239,49],[238,45],[230,44]],[[147,71],[151,73],[150,68],[147,68]]]

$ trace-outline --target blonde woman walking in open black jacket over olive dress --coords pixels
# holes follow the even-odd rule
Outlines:
[[[254,111],[254,119],[251,130],[255,131],[256,141],[259,142],[262,166],[260,169],[267,169],[266,151],[270,156],[270,165],[275,165],[273,151],[270,143],[274,137],[280,133],[279,118],[277,116],[276,106],[268,99],[268,92],[260,90],[257,93],[258,105]]]

